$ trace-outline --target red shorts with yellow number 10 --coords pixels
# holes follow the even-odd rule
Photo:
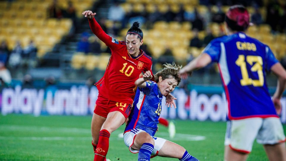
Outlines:
[[[106,118],[109,112],[119,111],[127,119],[132,109],[132,103],[131,99],[125,102],[114,102],[99,94],[93,112]]]

